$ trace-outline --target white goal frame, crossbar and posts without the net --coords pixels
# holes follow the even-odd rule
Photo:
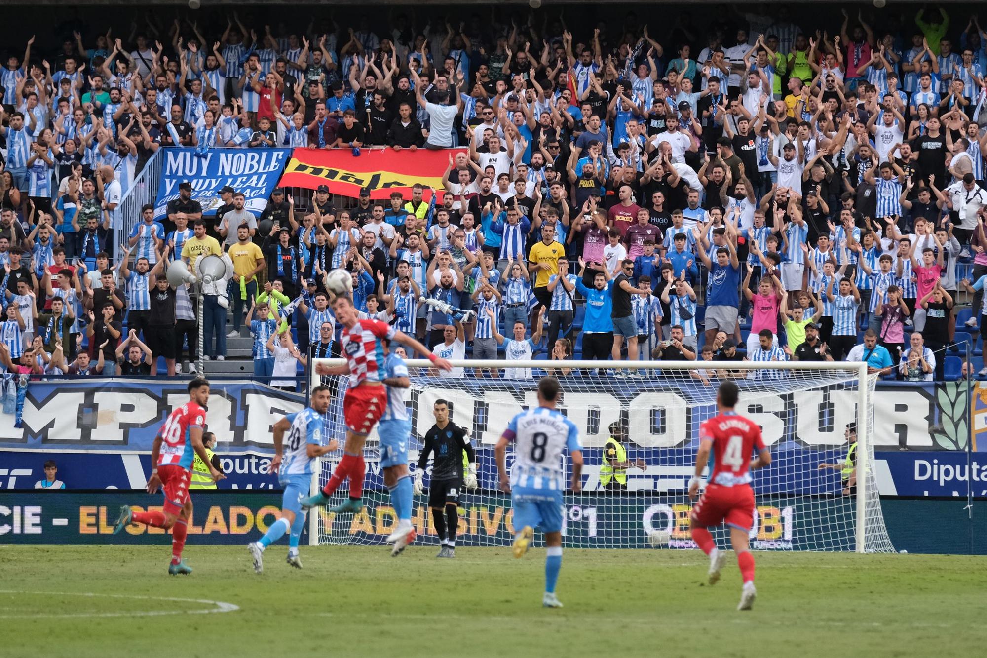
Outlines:
[[[309,402],[312,387],[320,383],[322,375],[316,372],[318,365],[329,367],[342,366],[344,359],[310,359],[308,367],[309,387],[305,393],[306,404]],[[409,368],[434,368],[427,359],[409,359],[405,362]],[[870,459],[871,448],[871,419],[867,417],[871,409],[871,391],[869,378],[873,375],[868,371],[867,362],[799,362],[799,361],[767,361],[767,362],[721,362],[721,361],[505,361],[502,359],[460,359],[449,362],[453,368],[503,370],[538,369],[559,370],[564,368],[577,370],[842,370],[856,372],[857,376],[857,452],[855,465],[857,467],[857,500],[855,543],[856,552],[866,552],[866,522],[868,485],[874,477]],[[322,457],[315,463],[315,472],[321,472]],[[312,493],[319,490],[318,478],[312,478]],[[319,515],[309,515],[309,542],[316,545],[319,542]]]

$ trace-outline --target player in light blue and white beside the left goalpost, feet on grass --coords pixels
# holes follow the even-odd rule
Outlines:
[[[264,572],[264,550],[285,533],[290,532],[287,562],[296,569],[302,568],[298,559],[298,543],[305,529],[305,512],[301,499],[312,486],[312,460],[333,452],[340,447],[335,439],[323,444],[323,418],[329,411],[333,396],[329,386],[312,388],[311,407],[288,414],[274,423],[274,457],[267,467],[268,473],[277,473],[277,482],[284,489],[281,498],[281,517],[267,529],[259,541],[248,544],[254,560],[254,571]],[[287,432],[287,441],[284,433]]]

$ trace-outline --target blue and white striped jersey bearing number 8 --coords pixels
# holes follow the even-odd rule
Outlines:
[[[581,451],[582,446],[578,428],[562,412],[547,407],[522,411],[507,424],[504,436],[514,443],[512,487],[566,488],[563,451]]]

